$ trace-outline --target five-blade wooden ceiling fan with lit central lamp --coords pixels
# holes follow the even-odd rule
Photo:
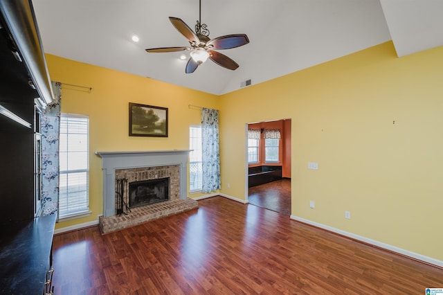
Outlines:
[[[201,0],[199,2],[199,20],[195,25],[195,33],[178,17],[169,17],[172,26],[177,28],[181,35],[188,39],[190,46],[147,48],[146,51],[148,53],[191,51],[190,58],[186,64],[186,73],[194,73],[197,67],[206,62],[208,58],[219,66],[234,71],[239,67],[237,62],[214,50],[235,48],[248,44],[248,36],[246,34],[235,34],[210,39],[208,26],[201,24]]]

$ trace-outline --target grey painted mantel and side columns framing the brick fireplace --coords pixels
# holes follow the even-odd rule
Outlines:
[[[188,155],[190,150],[96,152],[102,157],[103,215],[115,215],[116,169],[179,165],[180,199],[186,199]]]

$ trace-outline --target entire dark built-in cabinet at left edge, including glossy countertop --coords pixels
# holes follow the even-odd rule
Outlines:
[[[0,0],[0,65],[0,294],[51,293],[56,216],[40,215],[35,109],[53,95],[31,0]]]

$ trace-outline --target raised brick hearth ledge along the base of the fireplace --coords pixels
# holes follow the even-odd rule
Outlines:
[[[113,215],[100,217],[100,231],[102,234],[119,231],[129,226],[141,224],[161,217],[181,213],[199,207],[194,199],[176,199],[170,202],[161,202],[149,206],[132,208],[127,215]]]

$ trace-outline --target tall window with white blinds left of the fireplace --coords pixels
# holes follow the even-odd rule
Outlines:
[[[88,116],[60,116],[60,219],[89,214],[88,135]]]

